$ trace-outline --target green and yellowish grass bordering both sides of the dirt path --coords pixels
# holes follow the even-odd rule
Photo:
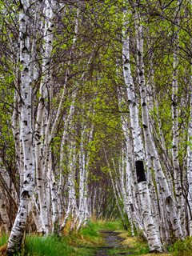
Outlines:
[[[20,256],[94,256],[98,247],[105,246],[101,230],[116,230],[123,233],[122,238],[128,238],[128,232],[123,231],[121,222],[88,222],[79,232],[70,233],[70,228],[66,228],[61,238],[56,236],[39,237],[37,235],[26,235],[26,243]],[[124,246],[111,248],[107,251],[109,255],[131,253],[130,255],[141,255],[148,252],[146,242],[141,239],[132,238],[127,240]],[[0,245],[7,242],[7,237],[0,238]],[[177,255],[178,256],[178,255]]]

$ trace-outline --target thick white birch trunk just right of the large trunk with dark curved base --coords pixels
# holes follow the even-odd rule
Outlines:
[[[35,124],[35,158],[37,170],[37,187],[38,187],[38,201],[40,207],[40,215],[42,218],[43,232],[48,234],[50,232],[50,210],[49,207],[49,186],[46,177],[49,162],[49,97],[52,95],[51,86],[51,68],[50,57],[53,49],[53,19],[54,19],[55,1],[45,1],[44,14],[46,17],[44,27],[44,54],[42,61],[42,81],[40,84],[40,99],[38,102],[38,114]],[[50,95],[50,96],[48,96]],[[43,138],[43,140],[42,140]],[[48,192],[48,194],[46,193]]]

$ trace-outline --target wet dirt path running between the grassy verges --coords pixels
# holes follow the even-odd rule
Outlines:
[[[133,254],[133,251],[130,252],[127,246],[122,246],[121,242],[123,241],[123,238],[118,236],[118,232],[101,231],[101,233],[106,246],[99,247],[95,253],[96,256],[118,256]]]

